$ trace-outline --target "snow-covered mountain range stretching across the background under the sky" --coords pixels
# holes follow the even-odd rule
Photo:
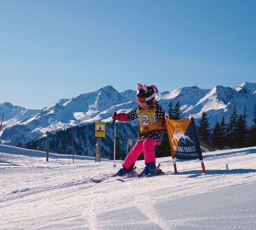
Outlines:
[[[256,100],[255,91],[256,82],[245,82],[235,88],[218,85],[211,90],[197,86],[182,87],[171,92],[163,92],[158,101],[166,113],[170,101],[173,102],[173,106],[179,101],[182,117],[188,117],[189,113],[193,112],[195,118],[199,119],[205,111],[211,126],[214,126],[217,120],[221,120],[223,115],[228,122],[235,104],[239,114],[246,106],[249,115],[247,122],[251,125]],[[40,111],[5,102],[0,104],[0,115],[5,113],[1,139],[6,142],[25,143],[47,131],[72,125],[86,125],[95,121],[110,122],[114,111],[127,112],[136,106],[135,90],[119,93],[112,86],[105,86],[72,99],[60,99]]]

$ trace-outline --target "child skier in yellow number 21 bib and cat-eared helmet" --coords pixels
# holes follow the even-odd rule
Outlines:
[[[117,172],[118,176],[123,176],[132,172],[136,160],[144,152],[145,168],[141,176],[156,174],[156,156],[154,147],[160,145],[163,139],[164,129],[166,129],[165,113],[162,107],[155,100],[160,96],[155,85],[146,86],[137,83],[137,101],[139,105],[128,113],[116,113],[112,115],[113,120],[120,122],[132,121],[139,118],[140,132],[137,142],[127,154],[123,168]]]

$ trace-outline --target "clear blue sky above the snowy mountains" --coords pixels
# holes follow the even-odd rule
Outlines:
[[[0,1],[0,103],[256,81],[256,1]]]

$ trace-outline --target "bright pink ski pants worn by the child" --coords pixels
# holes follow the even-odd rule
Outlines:
[[[145,164],[151,162],[156,163],[156,156],[154,150],[155,145],[159,144],[152,138],[147,138],[142,142],[137,142],[125,157],[123,167],[125,169],[130,169],[131,165],[136,162],[142,152],[144,152]]]

